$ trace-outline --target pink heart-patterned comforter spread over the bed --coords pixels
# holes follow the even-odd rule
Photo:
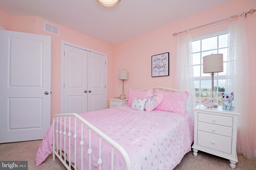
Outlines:
[[[189,112],[184,114],[155,110],[142,112],[130,109],[128,106],[122,106],[115,109],[80,113],[79,115],[126,150],[133,170],[173,169],[180,163],[183,156],[191,150],[190,146],[194,139],[194,121]],[[62,121],[64,122],[64,119]],[[72,121],[74,120],[72,119]],[[80,123],[77,124],[77,134],[80,134]],[[68,121],[66,127],[66,131],[68,131]],[[84,126],[84,129],[83,166],[84,169],[88,169],[88,144],[86,144],[88,141],[88,128]],[[74,128],[72,131],[74,131]],[[78,151],[80,151],[79,136],[77,139]],[[52,143],[51,126],[36,154],[36,166],[42,164],[47,156],[52,153]],[[92,145],[92,169],[96,169],[98,137],[96,137],[95,133],[92,133],[92,144],[95,144]],[[106,141],[102,141],[103,170],[110,169],[110,153],[110,145]],[[72,147],[71,154],[74,155]],[[80,154],[78,153],[78,155]],[[116,170],[126,169],[124,159],[120,155],[118,151],[114,153],[114,167]],[[73,162],[74,158],[71,158],[71,161]],[[77,167],[78,169],[81,167],[80,156],[77,156]]]

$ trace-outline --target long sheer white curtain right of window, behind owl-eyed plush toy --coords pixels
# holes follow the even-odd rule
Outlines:
[[[225,91],[234,92],[232,104],[241,114],[238,120],[237,151],[250,159],[254,157],[253,115],[250,102],[248,47],[244,16],[230,18],[228,33],[229,51]]]

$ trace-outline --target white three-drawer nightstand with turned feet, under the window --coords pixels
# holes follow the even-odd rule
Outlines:
[[[230,160],[230,167],[236,168],[237,120],[240,113],[222,110],[222,107],[195,107],[195,129],[193,154],[198,150]]]

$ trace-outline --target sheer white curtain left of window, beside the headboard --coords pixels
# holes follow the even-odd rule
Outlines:
[[[189,93],[187,110],[192,112],[192,108],[196,106],[196,98],[190,30],[182,35],[178,34],[175,86]]]

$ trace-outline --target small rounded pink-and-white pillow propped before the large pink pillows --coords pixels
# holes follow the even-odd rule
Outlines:
[[[148,98],[148,102],[146,102],[145,110],[152,111],[163,101],[164,96],[161,93],[153,94]]]

